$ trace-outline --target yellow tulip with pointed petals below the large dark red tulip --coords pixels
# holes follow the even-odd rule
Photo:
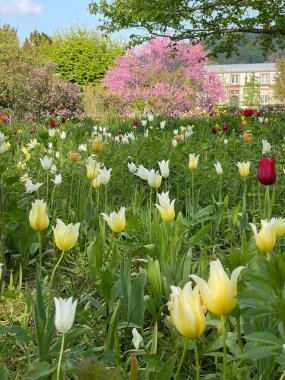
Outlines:
[[[276,228],[275,221],[267,220],[261,221],[261,229],[257,232],[256,225],[249,223],[253,230],[255,243],[257,247],[263,252],[269,252],[275,247],[276,243]]]

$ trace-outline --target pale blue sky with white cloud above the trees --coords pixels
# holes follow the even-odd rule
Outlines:
[[[99,17],[88,12],[91,0],[0,0],[0,26],[10,24],[18,30],[20,41],[37,30],[52,35],[72,24],[96,28]],[[128,39],[128,31],[115,37]]]

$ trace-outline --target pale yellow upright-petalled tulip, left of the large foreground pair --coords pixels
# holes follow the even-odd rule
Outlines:
[[[198,287],[193,290],[191,282],[188,282],[183,289],[171,286],[171,290],[168,309],[172,324],[181,335],[197,338],[206,328]]]

